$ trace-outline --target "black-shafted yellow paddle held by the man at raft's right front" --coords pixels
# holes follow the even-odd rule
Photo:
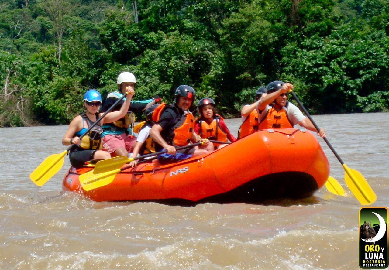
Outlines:
[[[319,132],[319,127],[316,125],[305,107],[301,104],[300,100],[297,98],[293,91],[291,91],[290,93],[292,94],[298,105],[301,107],[301,109],[304,111],[304,113],[307,115],[309,120],[312,122],[312,124],[315,126],[317,132]],[[359,200],[362,205],[370,205],[375,202],[375,200],[377,200],[377,195],[375,195],[373,189],[370,187],[369,183],[366,181],[363,175],[359,171],[347,167],[347,165],[343,162],[338,153],[336,153],[335,149],[329,143],[328,139],[326,137],[324,137],[323,139],[329,146],[329,149],[331,149],[331,151],[334,153],[335,157],[339,160],[340,164],[342,164],[343,169],[345,171],[344,177],[346,184],[350,188],[354,196]]]

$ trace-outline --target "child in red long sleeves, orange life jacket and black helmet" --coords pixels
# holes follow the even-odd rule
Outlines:
[[[198,102],[197,111],[200,117],[195,120],[195,132],[203,139],[231,142],[237,139],[230,133],[223,117],[216,114],[215,101],[212,98],[202,98]],[[226,144],[214,143],[215,149]]]

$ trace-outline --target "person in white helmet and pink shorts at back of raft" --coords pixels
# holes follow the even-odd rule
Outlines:
[[[105,112],[112,106],[117,99],[121,98],[126,92],[126,88],[130,87],[135,89],[137,80],[135,75],[131,72],[122,72],[117,77],[117,90],[110,92],[102,105],[102,111]],[[120,110],[121,105],[124,103],[124,98],[119,104],[116,105],[112,111]],[[158,103],[161,98],[158,95],[151,99],[145,99],[140,101],[131,100],[130,108],[125,117],[109,124],[103,125],[103,149],[111,154],[111,156],[124,155],[128,156],[132,152],[133,145],[136,142],[135,136],[130,135],[129,126],[131,124],[132,112],[143,111],[150,106]]]

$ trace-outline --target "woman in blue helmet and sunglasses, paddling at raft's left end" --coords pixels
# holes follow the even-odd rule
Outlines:
[[[126,101],[123,103],[119,111],[111,111],[100,120],[98,124],[89,131],[89,134],[80,136],[87,131],[88,127],[96,122],[103,113],[98,113],[102,103],[101,95],[95,89],[90,89],[84,94],[84,108],[85,112],[77,115],[69,124],[69,128],[62,138],[63,145],[74,144],[69,154],[70,164],[73,167],[82,167],[86,161],[92,159],[109,159],[111,155],[102,149],[103,132],[102,125],[104,123],[114,122],[126,115],[130,107],[130,101],[135,94],[133,88],[128,87]]]

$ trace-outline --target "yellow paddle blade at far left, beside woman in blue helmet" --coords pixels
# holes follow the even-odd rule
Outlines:
[[[31,181],[37,185],[42,186],[50,178],[56,174],[63,165],[63,157],[68,151],[65,150],[60,154],[48,156],[41,164],[30,174]]]

